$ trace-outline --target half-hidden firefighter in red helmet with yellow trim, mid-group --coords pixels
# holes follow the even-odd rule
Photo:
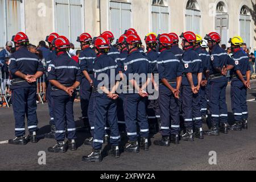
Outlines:
[[[156,34],[150,33],[145,37],[147,53],[146,57],[150,61],[150,67],[152,69],[152,73],[158,73],[156,64],[159,53],[156,51],[156,47],[158,46],[158,42],[156,40]],[[153,82],[155,84],[155,82]],[[155,89],[158,89],[158,85],[154,86]],[[160,109],[158,99],[155,100],[147,100],[147,116],[148,116],[148,124],[150,127],[150,134],[156,134],[159,131],[158,125],[160,124]],[[158,124],[159,122],[159,124]]]

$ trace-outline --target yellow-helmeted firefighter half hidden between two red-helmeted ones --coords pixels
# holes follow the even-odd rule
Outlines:
[[[209,67],[210,67],[210,55],[208,52],[205,52],[201,48],[201,44],[203,43],[203,39],[200,35],[196,35],[196,46],[195,51],[199,55],[200,59],[202,60],[202,67],[203,67],[203,78],[201,81],[201,88],[199,90],[200,94],[200,107],[201,107],[201,115],[203,121],[206,123],[207,120],[207,97],[206,97],[206,86],[207,80],[209,78]]]

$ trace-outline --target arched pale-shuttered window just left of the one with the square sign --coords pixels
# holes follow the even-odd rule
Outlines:
[[[196,0],[189,0],[185,13],[186,30],[200,34],[201,12]]]

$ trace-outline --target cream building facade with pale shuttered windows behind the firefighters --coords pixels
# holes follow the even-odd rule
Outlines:
[[[18,31],[32,44],[57,32],[75,46],[82,32],[97,36],[110,30],[117,39],[130,27],[143,39],[156,34],[193,31],[204,36],[216,31],[227,44],[240,35],[256,48],[253,4],[256,0],[0,0],[0,47]]]

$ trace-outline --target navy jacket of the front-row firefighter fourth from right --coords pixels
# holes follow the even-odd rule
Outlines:
[[[175,80],[171,82],[176,82],[176,78],[182,76],[184,67],[179,59],[171,52],[171,50],[165,50],[160,53],[157,60],[157,67],[159,73],[159,81],[163,78],[167,80]],[[176,87],[176,84],[171,84],[171,86]],[[163,88],[167,88],[163,85]],[[168,88],[167,88],[168,89]]]

